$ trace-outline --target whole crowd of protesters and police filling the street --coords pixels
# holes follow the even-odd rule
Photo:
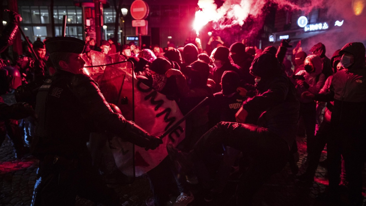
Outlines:
[[[1,46],[3,52],[8,44]],[[205,50],[198,38],[179,48],[169,43],[166,49],[121,46],[113,38],[99,48],[92,38],[37,40],[36,56],[1,59],[1,95],[15,93],[19,101],[1,102],[1,142],[8,134],[17,158],[29,153],[30,145],[40,160],[32,205],[73,205],[76,195],[118,205],[116,192],[93,165],[86,146],[90,132],[107,131],[146,150],[156,149],[162,140],[124,119],[97,82],[83,74],[83,53],[117,53],[134,62],[138,80],[175,100],[183,114],[205,97],[210,100],[186,119],[184,140],[168,146],[168,157],[147,172],[153,205],[166,205],[176,190],[180,194],[174,205],[188,205],[194,194],[187,184],[201,184],[205,201],[211,202],[223,192],[234,167],[242,173],[236,203],[251,205],[262,184],[288,162],[299,181],[314,181],[325,144],[327,201],[362,205],[365,46],[348,43],[329,59],[325,45],[318,43],[309,52],[294,50],[288,64],[291,47],[290,40],[283,40],[279,48],[256,50],[242,42],[225,45],[220,37],[210,38]],[[303,174],[297,174],[296,165],[300,119],[308,153]],[[166,184],[171,177],[175,189]],[[340,200],[341,187],[347,188],[347,202]]]

